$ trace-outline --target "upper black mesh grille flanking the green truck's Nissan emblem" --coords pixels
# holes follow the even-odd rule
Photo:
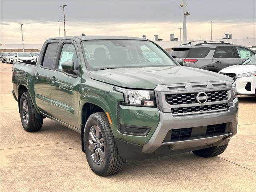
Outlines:
[[[228,90],[209,91],[205,93],[208,96],[207,102],[228,100]],[[196,95],[197,95],[197,92],[181,93],[181,94],[166,94],[165,98],[166,98],[166,102],[170,105],[192,104],[192,103],[198,103],[196,100]]]

